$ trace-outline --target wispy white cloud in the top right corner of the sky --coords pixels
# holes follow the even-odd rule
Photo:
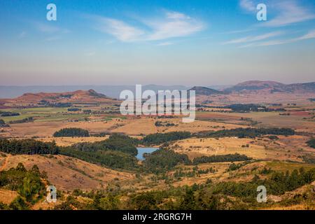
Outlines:
[[[304,6],[300,6],[297,1],[294,0],[279,1],[274,4],[274,7],[279,10],[279,15],[272,20],[262,23],[262,26],[283,27],[315,18],[314,12]]]

